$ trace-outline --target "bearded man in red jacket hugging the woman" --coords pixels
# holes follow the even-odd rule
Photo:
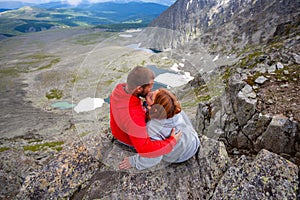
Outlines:
[[[110,96],[110,127],[115,139],[133,147],[143,157],[157,157],[170,153],[181,132],[165,140],[151,140],[146,127],[146,110],[141,97],[146,97],[154,84],[154,73],[137,66],[127,76],[126,83],[116,86]]]

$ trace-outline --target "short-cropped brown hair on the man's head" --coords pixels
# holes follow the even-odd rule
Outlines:
[[[133,90],[138,86],[145,87],[150,84],[151,80],[154,80],[154,72],[150,69],[142,66],[136,66],[133,68],[127,76],[127,86]]]

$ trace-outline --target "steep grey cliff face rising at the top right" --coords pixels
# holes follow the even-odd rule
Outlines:
[[[278,26],[293,24],[299,12],[300,2],[292,0],[178,0],[149,27],[168,30],[168,37],[154,36],[163,39],[156,43],[157,49],[174,48],[197,38],[211,51],[231,52],[267,42]]]

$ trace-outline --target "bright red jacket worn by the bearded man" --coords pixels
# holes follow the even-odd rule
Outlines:
[[[151,140],[146,127],[145,110],[141,100],[124,90],[125,83],[117,85],[110,96],[110,127],[113,136],[130,146],[143,157],[157,157],[172,151],[176,140]]]

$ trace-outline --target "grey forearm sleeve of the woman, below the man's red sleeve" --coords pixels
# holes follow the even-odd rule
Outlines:
[[[137,168],[138,170],[147,169],[150,167],[153,167],[160,163],[163,156],[158,156],[155,158],[145,158],[140,156],[139,154],[136,154],[134,156],[129,157],[130,165]]]

